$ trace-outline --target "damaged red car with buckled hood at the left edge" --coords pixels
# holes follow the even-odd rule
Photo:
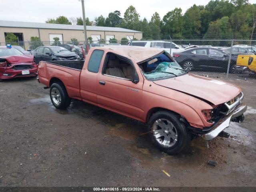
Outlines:
[[[37,76],[38,65],[34,56],[24,55],[15,48],[0,46],[0,80]]]

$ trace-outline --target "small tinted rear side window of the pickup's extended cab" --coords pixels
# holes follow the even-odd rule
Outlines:
[[[103,50],[94,50],[88,63],[88,71],[98,73],[100,68],[100,62],[104,54]]]

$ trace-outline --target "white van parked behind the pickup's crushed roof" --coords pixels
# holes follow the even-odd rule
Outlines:
[[[161,48],[166,52],[170,53],[170,45],[171,42],[168,41],[133,41],[132,44],[129,42],[129,45],[132,46],[142,46],[142,47],[154,47],[154,48]],[[172,53],[180,52],[184,50],[181,46],[172,42]]]

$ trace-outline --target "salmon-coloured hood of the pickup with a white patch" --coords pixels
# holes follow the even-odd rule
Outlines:
[[[241,92],[241,88],[236,85],[193,74],[158,80],[154,83],[202,98],[214,105],[228,102]]]

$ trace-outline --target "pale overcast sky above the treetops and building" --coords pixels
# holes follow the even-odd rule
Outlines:
[[[101,14],[120,10],[122,16],[128,6],[135,6],[140,18],[150,20],[154,12],[162,18],[174,8],[182,8],[183,13],[193,4],[205,5],[209,0],[85,0],[86,17],[94,20]],[[255,3],[255,0],[249,0]],[[0,20],[45,22],[47,18],[58,16],[82,16],[81,2],[78,0],[0,0]]]

